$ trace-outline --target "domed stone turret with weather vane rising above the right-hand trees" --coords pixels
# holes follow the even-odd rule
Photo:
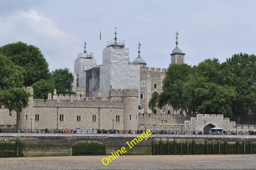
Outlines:
[[[179,33],[176,32],[176,47],[172,50],[171,53],[171,64],[183,64],[185,61],[185,53],[183,53],[182,50],[178,48],[178,36]]]

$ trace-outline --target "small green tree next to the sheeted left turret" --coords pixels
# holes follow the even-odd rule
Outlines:
[[[74,76],[69,69],[56,69],[52,71],[52,78],[58,94],[74,94],[72,83]]]

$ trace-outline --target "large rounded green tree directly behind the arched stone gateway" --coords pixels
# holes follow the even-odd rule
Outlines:
[[[232,114],[232,102],[237,96],[230,85],[232,79],[233,74],[218,59],[199,63],[184,83],[187,107],[197,113]]]

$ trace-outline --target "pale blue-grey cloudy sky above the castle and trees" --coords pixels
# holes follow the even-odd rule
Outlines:
[[[168,68],[178,31],[185,63],[223,62],[255,53],[255,7],[256,0],[0,0],[0,46],[37,46],[50,71],[66,67],[73,73],[84,41],[99,64],[99,30],[102,53],[117,27],[131,61],[140,42],[148,67]]]

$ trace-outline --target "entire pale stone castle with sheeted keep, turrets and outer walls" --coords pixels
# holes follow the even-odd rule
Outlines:
[[[177,33],[178,36],[178,33]],[[185,53],[176,47],[171,53],[171,64],[184,63]],[[86,45],[86,44],[85,44]],[[7,108],[0,109],[0,129],[119,129],[119,130],[177,130],[203,131],[221,126],[234,130],[237,125],[223,115],[180,114],[170,106],[154,111],[148,108],[153,93],[161,93],[166,69],[149,68],[140,55],[130,62],[129,49],[124,41],[110,41],[103,49],[102,65],[97,65],[93,54],[77,55],[74,61],[73,91],[76,95],[49,94],[48,99],[33,99],[19,115],[9,116]],[[57,89],[58,90],[58,89]],[[146,114],[146,113],[150,113]],[[16,120],[17,118],[17,120]],[[248,125],[248,129],[253,128]],[[255,127],[254,127],[255,129]]]

